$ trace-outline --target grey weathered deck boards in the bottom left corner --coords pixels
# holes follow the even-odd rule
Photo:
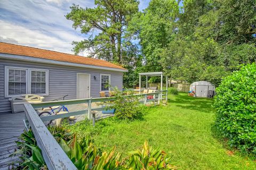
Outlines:
[[[24,130],[24,113],[0,114],[0,169],[9,169],[9,164],[18,157],[9,157],[17,148],[16,140]]]

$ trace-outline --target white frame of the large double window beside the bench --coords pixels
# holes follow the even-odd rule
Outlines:
[[[44,71],[45,72],[45,94],[36,94],[39,96],[48,96],[49,95],[49,70],[45,69],[31,69],[28,67],[13,67],[5,66],[5,77],[4,77],[4,88],[5,88],[5,97],[12,97],[17,95],[9,95],[9,70],[25,70],[26,71],[26,94],[31,94],[31,71]]]

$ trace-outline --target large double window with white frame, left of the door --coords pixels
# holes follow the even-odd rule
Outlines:
[[[5,67],[5,97],[48,94],[48,70]]]

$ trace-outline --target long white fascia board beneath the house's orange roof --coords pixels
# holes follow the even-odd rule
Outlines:
[[[70,63],[70,62],[61,62],[61,61],[44,59],[44,58],[36,58],[36,57],[22,56],[22,55],[13,55],[13,54],[6,54],[6,53],[0,53],[0,58],[8,59],[8,60],[35,62],[35,63],[46,63],[46,64],[56,64],[56,65],[83,67],[83,68],[87,68],[87,69],[98,69],[98,70],[128,72],[128,70],[115,69],[115,68],[111,68],[111,67],[104,67],[104,66],[97,66],[97,65],[87,65],[87,64],[78,64],[78,63]]]

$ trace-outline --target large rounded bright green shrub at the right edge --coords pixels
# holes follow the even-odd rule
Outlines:
[[[256,154],[256,65],[226,77],[216,91],[217,130],[231,147]]]

